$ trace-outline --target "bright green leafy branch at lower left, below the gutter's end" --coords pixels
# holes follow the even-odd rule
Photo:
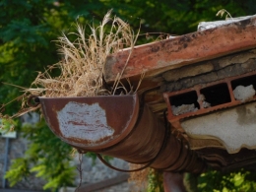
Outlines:
[[[30,141],[24,158],[14,160],[6,178],[11,186],[28,177],[32,172],[47,181],[43,189],[55,190],[61,186],[72,186],[76,175],[70,164],[72,148],[60,142],[44,121],[21,128],[23,136]]]

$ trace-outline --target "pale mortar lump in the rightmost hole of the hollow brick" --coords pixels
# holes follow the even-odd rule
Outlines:
[[[233,90],[233,96],[235,97],[235,99],[241,100],[243,102],[245,100],[253,98],[253,96],[255,96],[255,90],[253,89],[252,85],[247,87],[237,86]]]

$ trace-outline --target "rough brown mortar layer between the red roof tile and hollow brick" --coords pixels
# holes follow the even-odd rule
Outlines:
[[[164,80],[160,91],[175,92],[199,84],[222,80],[225,77],[245,74],[256,69],[256,49],[230,54],[200,62],[161,75]]]

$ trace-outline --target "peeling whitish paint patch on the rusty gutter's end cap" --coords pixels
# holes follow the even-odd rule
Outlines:
[[[114,129],[107,125],[105,110],[92,105],[69,102],[57,112],[60,131],[66,138],[88,140],[91,143],[112,136]]]

